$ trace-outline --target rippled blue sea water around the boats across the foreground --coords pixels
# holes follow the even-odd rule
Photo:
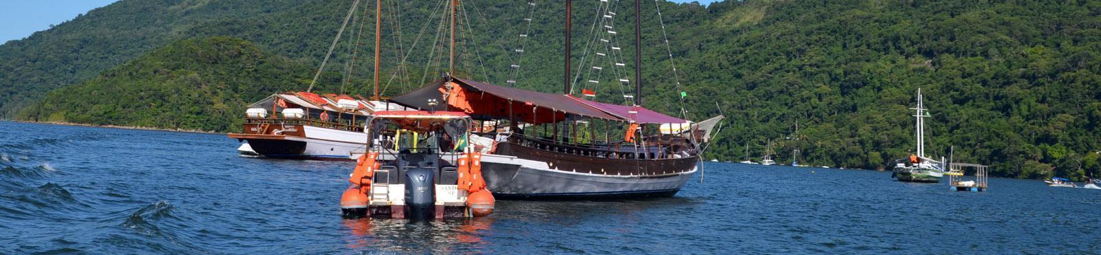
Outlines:
[[[673,198],[498,201],[465,221],[346,220],[350,162],[237,156],[235,140],[0,122],[0,254],[1099,253],[1101,190],[707,163]]]

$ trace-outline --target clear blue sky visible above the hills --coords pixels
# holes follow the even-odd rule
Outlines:
[[[0,44],[20,40],[52,24],[73,20],[116,0],[0,0]],[[673,0],[691,2],[694,0]],[[695,0],[707,4],[717,0]]]

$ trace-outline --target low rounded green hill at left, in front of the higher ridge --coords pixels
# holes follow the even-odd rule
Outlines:
[[[240,131],[240,113],[248,103],[308,82],[310,69],[238,38],[186,40],[53,90],[21,115],[33,121]]]

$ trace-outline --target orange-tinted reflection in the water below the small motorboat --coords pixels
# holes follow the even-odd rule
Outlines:
[[[406,221],[395,219],[344,219],[350,250],[388,252],[453,253],[454,247],[484,246],[482,236],[493,218],[447,221]]]

